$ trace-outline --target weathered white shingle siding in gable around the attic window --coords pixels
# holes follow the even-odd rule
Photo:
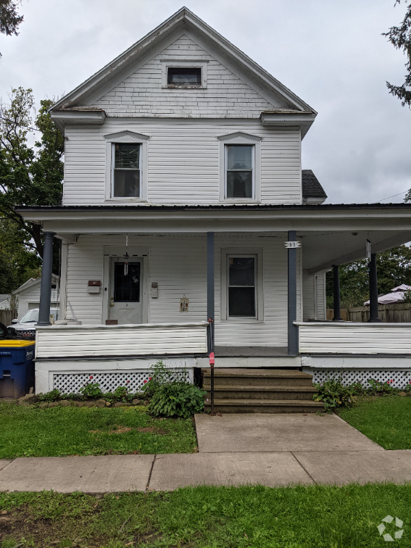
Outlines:
[[[166,59],[206,61],[206,88],[163,88],[162,60]],[[94,104],[109,116],[210,118],[258,118],[263,110],[284,106],[275,99],[271,103],[266,101],[197,45],[195,39],[185,35],[177,38]]]

